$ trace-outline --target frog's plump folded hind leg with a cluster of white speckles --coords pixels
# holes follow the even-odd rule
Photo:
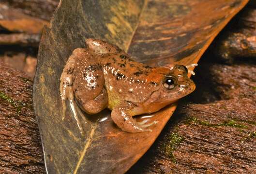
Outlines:
[[[104,76],[101,64],[95,53],[84,48],[73,51],[75,69],[73,73],[73,92],[78,106],[88,114],[96,114],[108,103],[104,87]]]

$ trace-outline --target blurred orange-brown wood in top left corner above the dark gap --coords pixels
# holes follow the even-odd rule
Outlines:
[[[1,0],[0,45],[38,46],[43,27],[57,7],[59,0]]]

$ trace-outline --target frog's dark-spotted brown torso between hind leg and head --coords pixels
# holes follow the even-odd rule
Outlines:
[[[148,81],[152,67],[122,53],[105,54],[101,58],[109,108],[124,100],[143,102],[157,89],[155,83]]]

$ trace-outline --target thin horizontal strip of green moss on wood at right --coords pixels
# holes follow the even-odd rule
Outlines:
[[[233,120],[233,119],[226,120],[223,123],[212,124],[212,123],[209,123],[208,121],[199,120],[196,117],[190,117],[189,119],[187,119],[187,123],[190,124],[191,122],[198,123],[203,126],[214,127],[214,128],[221,127],[221,126],[228,126],[228,127],[234,127],[234,128],[247,128],[247,126],[243,124],[239,124],[236,120]]]

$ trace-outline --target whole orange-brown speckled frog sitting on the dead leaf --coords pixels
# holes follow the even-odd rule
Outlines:
[[[61,99],[73,100],[74,94],[79,108],[88,114],[107,107],[123,131],[151,131],[148,127],[156,122],[136,122],[133,116],[156,112],[195,89],[183,65],[152,68],[104,41],[87,39],[86,45],[73,51],[63,69]]]

